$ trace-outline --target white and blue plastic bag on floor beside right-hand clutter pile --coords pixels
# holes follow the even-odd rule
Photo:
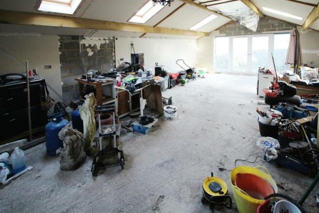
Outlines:
[[[256,145],[260,148],[260,150],[265,154],[266,159],[272,160],[278,157],[278,153],[276,149],[280,149],[280,144],[278,140],[272,137],[260,137],[256,141]]]

